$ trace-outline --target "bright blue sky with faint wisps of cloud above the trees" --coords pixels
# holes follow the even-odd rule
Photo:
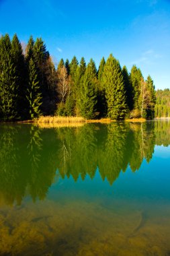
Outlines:
[[[113,53],[170,88],[170,0],[0,0],[0,34],[41,36],[55,61]]]

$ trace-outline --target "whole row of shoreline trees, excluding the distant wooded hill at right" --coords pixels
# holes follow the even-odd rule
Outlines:
[[[30,36],[23,49],[15,34],[0,38],[0,119],[34,119],[40,115],[153,119],[155,86],[136,65],[130,73],[111,54],[85,63],[60,60],[55,68],[42,38]]]

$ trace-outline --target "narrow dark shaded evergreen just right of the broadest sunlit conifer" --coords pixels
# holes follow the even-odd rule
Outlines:
[[[126,66],[122,68],[122,75],[124,77],[124,86],[126,90],[126,103],[128,109],[132,110],[133,108],[133,98],[132,98],[132,84],[130,83],[130,75],[128,74],[128,69]]]

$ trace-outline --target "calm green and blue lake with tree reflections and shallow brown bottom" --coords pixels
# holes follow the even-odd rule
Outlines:
[[[170,255],[170,121],[0,125],[0,255]]]

